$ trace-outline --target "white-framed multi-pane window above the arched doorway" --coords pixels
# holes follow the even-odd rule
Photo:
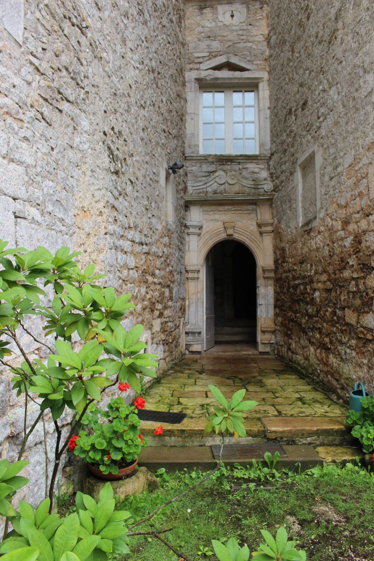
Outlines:
[[[257,154],[257,89],[200,89],[200,153]]]

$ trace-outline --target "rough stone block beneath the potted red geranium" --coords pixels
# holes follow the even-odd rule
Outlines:
[[[98,501],[99,493],[106,483],[107,481],[97,479],[86,473],[83,478],[83,492]],[[113,493],[120,499],[130,495],[141,495],[147,489],[153,490],[159,486],[157,478],[144,466],[139,467],[138,471],[131,473],[126,479],[110,481],[110,483]]]

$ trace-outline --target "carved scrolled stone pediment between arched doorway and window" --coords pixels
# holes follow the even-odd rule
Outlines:
[[[261,177],[222,170],[212,173],[209,177],[192,177],[188,183],[188,192],[194,195],[256,195],[261,191],[269,193],[271,190],[270,181],[264,181]]]

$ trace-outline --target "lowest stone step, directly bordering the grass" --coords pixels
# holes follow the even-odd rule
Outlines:
[[[240,443],[242,440],[240,440]],[[263,441],[266,442],[266,441]],[[297,464],[302,466],[302,470],[322,464],[323,460],[316,450],[310,445],[288,445],[282,446],[286,457],[279,458],[276,467],[292,468]],[[240,464],[247,466],[252,463],[252,459],[256,461],[263,460],[263,456],[241,458],[238,460],[227,459],[225,465]],[[148,470],[156,471],[165,468],[167,471],[192,470],[194,467],[202,471],[211,470],[217,465],[210,446],[149,446],[143,448],[139,456],[139,466],[145,466]]]

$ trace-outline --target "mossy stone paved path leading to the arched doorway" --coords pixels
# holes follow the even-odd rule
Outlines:
[[[147,390],[146,407],[186,412],[188,417],[180,425],[167,425],[165,434],[188,438],[190,431],[203,430],[207,414],[216,404],[209,384],[219,387],[227,398],[245,388],[245,399],[258,402],[245,415],[247,434],[254,438],[301,439],[323,431],[329,436],[336,431],[346,436],[346,407],[332,401],[279,358],[240,352],[238,348],[186,357]],[[156,426],[142,423],[148,435]]]

